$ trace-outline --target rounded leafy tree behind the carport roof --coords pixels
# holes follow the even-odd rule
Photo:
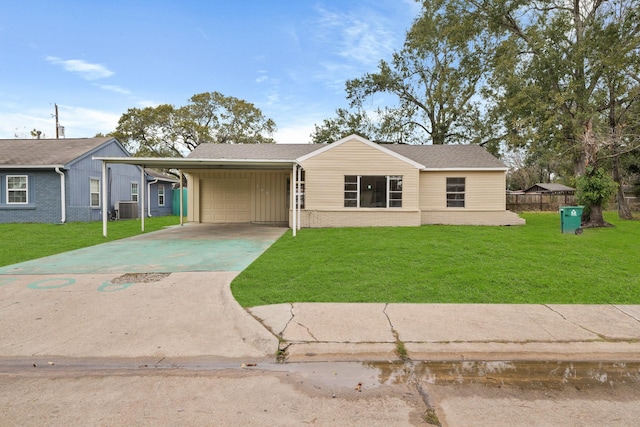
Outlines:
[[[273,143],[275,122],[255,105],[218,92],[192,96],[176,108],[170,104],[130,108],[112,136],[136,156],[183,156],[202,143]]]

